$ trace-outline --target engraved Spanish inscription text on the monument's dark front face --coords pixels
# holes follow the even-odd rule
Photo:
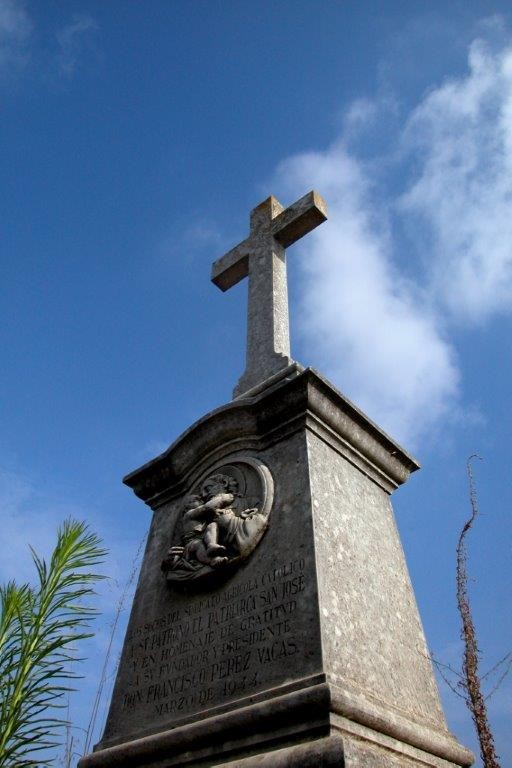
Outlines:
[[[300,651],[303,559],[171,611],[127,637],[123,709],[187,714],[254,691],[262,669]]]

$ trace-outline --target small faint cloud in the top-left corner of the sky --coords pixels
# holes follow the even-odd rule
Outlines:
[[[31,31],[23,4],[0,0],[0,75],[12,74],[26,63]]]

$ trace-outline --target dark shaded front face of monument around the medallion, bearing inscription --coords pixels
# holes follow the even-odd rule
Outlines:
[[[309,492],[296,472],[306,446],[296,433],[258,458],[279,474],[270,525],[252,557],[214,588],[180,591],[162,577],[182,497],[155,509],[105,743],[321,672]]]

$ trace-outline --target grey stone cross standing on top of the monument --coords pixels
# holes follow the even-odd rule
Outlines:
[[[222,291],[249,277],[246,369],[235,397],[292,363],[285,248],[326,218],[317,192],[288,208],[271,195],[251,211],[249,237],[213,264],[212,281]]]

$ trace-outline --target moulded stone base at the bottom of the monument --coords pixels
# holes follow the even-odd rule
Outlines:
[[[472,754],[446,731],[355,711],[317,679],[236,710],[99,749],[80,768],[455,768]],[[286,688],[286,686],[284,686]],[[351,717],[357,719],[351,719]],[[374,721],[375,727],[365,724]]]

